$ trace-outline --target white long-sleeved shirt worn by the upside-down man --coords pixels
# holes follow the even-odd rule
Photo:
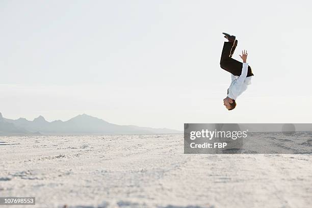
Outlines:
[[[242,74],[240,76],[235,76],[231,74],[231,84],[228,88],[227,96],[233,100],[236,100],[239,95],[241,95],[251,84],[251,76],[247,76],[248,63],[243,63]]]

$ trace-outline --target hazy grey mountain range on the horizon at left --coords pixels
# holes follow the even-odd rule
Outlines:
[[[105,135],[105,134],[182,134],[168,128],[139,127],[135,125],[117,125],[105,120],[78,115],[68,121],[48,122],[39,116],[33,121],[25,118],[17,120],[3,118],[0,113],[0,135]]]

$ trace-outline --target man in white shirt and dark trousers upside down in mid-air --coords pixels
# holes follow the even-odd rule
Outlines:
[[[223,99],[223,105],[230,111],[235,109],[237,97],[247,89],[248,85],[250,85],[253,73],[250,66],[248,66],[248,63],[246,63],[248,55],[247,51],[242,51],[242,55],[240,55],[243,63],[232,59],[238,41],[233,35],[227,33],[223,34],[228,42],[224,42],[220,66],[222,69],[231,73],[231,84],[227,89],[226,98]]]

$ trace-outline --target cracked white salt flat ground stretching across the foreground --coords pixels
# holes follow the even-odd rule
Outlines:
[[[312,155],[184,154],[183,138],[0,137],[0,196],[42,208],[312,207]]]

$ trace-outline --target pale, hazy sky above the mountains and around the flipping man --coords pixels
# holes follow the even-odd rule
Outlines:
[[[48,121],[311,123],[310,1],[0,2],[0,112]],[[227,111],[222,32],[252,85]]]

